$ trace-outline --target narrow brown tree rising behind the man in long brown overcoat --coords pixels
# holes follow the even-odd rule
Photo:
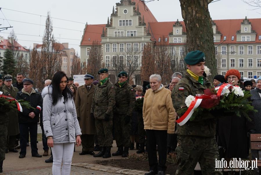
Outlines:
[[[94,74],[94,79],[98,78],[98,72],[102,67],[102,46],[94,41],[90,48],[90,54],[87,64],[88,72]]]

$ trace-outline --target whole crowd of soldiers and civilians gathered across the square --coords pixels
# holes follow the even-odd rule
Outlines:
[[[0,114],[0,172],[8,151],[20,149],[19,158],[26,156],[30,135],[33,157],[48,156],[51,148],[46,162],[53,162],[53,174],[70,174],[75,144],[82,146],[79,155],[109,158],[128,157],[135,142],[137,153],[148,153],[150,171],[145,175],[164,175],[167,154],[171,152],[177,154],[176,174],[229,174],[218,171],[215,160],[249,157],[249,135],[261,133],[261,77],[244,81],[238,70],[230,69],[225,76],[215,75],[211,83],[204,74],[203,52],[191,51],[184,61],[187,70],[183,75],[175,72],[168,85],[162,84],[158,74],[151,75],[142,86],[130,85],[125,71],[119,72],[118,81],[113,84],[104,68],[98,72],[99,81],[94,81],[95,72],[88,72],[81,86],[58,71],[52,80],[44,82],[39,93],[33,88],[34,82],[22,73],[17,74],[14,84],[12,75],[0,75],[0,91],[4,95],[28,101],[33,107]],[[197,115],[182,126],[176,124],[176,119],[184,114],[179,111],[185,106],[186,97],[204,94],[204,90],[223,83],[250,90],[249,101],[258,110],[249,113],[251,121],[235,113],[215,111]],[[38,122],[43,155],[37,149]],[[117,151],[111,154],[113,139]],[[251,153],[252,158],[258,157],[258,151]],[[200,167],[196,168],[200,171],[195,167]],[[258,169],[255,171],[258,174]]]

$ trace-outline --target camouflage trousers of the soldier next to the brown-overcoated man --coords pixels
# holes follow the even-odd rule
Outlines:
[[[95,119],[97,139],[101,147],[110,147],[113,144],[113,119],[104,121],[104,119]]]

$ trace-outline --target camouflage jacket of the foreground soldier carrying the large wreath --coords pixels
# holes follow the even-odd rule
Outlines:
[[[188,72],[184,72],[184,78],[174,86],[171,98],[173,106],[177,111],[179,117],[183,113],[179,113],[181,107],[186,107],[185,100],[189,95],[196,96],[196,94],[204,94],[204,89],[211,86],[208,79],[203,77],[203,85],[195,80]],[[215,136],[216,119],[211,113],[203,113],[195,117],[193,121],[188,121],[186,124],[179,126],[177,124],[178,135],[195,135],[201,137],[213,137]]]

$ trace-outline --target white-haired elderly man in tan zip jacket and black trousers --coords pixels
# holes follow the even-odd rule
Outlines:
[[[150,171],[145,175],[164,175],[167,158],[167,133],[174,134],[176,113],[172,104],[171,91],[161,84],[161,76],[150,76],[150,86],[143,103],[144,129],[147,136]],[[159,161],[157,160],[157,148]]]

